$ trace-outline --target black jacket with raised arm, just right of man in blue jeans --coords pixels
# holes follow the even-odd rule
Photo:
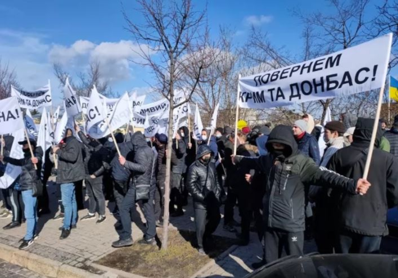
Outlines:
[[[83,131],[78,132],[78,136],[84,144],[85,158],[84,167],[86,174],[96,177],[102,176],[110,166],[107,161],[110,151],[95,140],[90,140],[84,135]]]

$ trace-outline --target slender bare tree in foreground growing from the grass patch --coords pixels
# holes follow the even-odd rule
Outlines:
[[[195,11],[191,0],[137,0],[143,23],[136,23],[125,10],[127,30],[139,45],[141,65],[154,74],[152,87],[169,101],[167,153],[172,153],[173,109],[189,101],[203,70],[213,62],[209,55],[206,10]],[[137,18],[136,14],[134,18]],[[189,88],[187,100],[173,103],[174,90]],[[166,157],[166,182],[162,249],[168,247],[171,155]]]

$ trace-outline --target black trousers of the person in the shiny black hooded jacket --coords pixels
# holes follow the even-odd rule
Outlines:
[[[207,209],[195,208],[196,240],[199,248],[203,248],[203,240],[206,240],[217,229],[220,220],[220,208],[212,206]]]

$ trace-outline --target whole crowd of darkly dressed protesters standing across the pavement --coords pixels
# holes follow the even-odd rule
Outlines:
[[[63,220],[60,239],[73,233],[77,221],[96,219],[99,229],[106,225],[107,199],[115,202],[111,214],[119,219],[115,224],[119,239],[113,247],[133,244],[131,213],[137,203],[146,219],[139,243],[156,245],[156,227],[163,226],[164,210],[171,217],[181,217],[192,198],[190,216],[195,219],[197,248],[203,255],[213,247],[212,234],[221,222],[222,207],[222,228],[236,233],[240,245],[249,244],[251,230],[257,232],[264,252],[255,268],[285,255],[302,255],[304,239],[312,237],[320,253],[377,253],[388,234],[387,210],[398,204],[398,117],[391,129],[380,120],[371,170],[363,179],[373,123],[373,119],[342,114],[339,121],[322,127],[315,125],[311,115],[304,115],[291,126],[257,125],[236,134],[227,126],[217,128],[214,135],[203,129],[200,139],[181,127],[171,153],[165,134],[145,138],[137,131],[125,135],[126,140],[119,133],[113,142],[112,137],[92,139],[75,126],[48,150],[36,146],[33,139],[19,142],[23,159],[10,157],[13,138],[6,136],[0,157],[3,173],[7,163],[22,166],[22,172],[10,188],[2,190],[0,217],[11,218],[3,229],[26,221],[20,248],[34,242],[37,217],[50,211],[46,186],[57,162],[60,202],[54,219]],[[320,140],[326,149],[320,149]],[[168,158],[171,193],[170,206],[165,208]],[[39,182],[44,184],[40,193]],[[78,219],[77,211],[84,209],[83,184],[88,213]],[[239,215],[234,214],[235,207]]]

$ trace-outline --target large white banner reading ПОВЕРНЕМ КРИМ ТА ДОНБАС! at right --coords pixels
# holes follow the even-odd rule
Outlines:
[[[380,88],[392,34],[316,59],[239,79],[239,106],[273,108]]]

